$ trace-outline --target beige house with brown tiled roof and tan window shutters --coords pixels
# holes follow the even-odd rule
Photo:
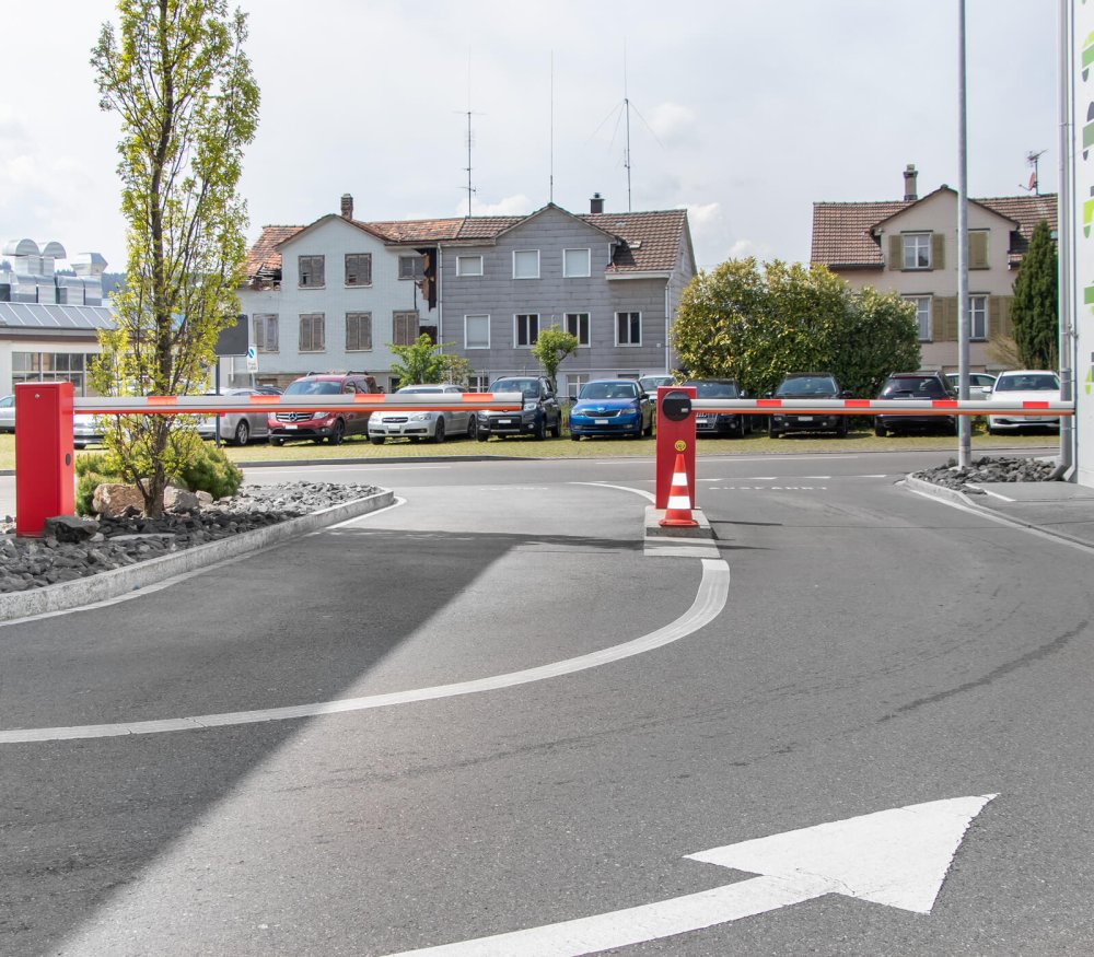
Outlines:
[[[920,197],[918,174],[904,173],[904,199],[815,202],[811,261],[861,289],[897,292],[916,305],[924,369],[957,370],[957,192],[940,186]],[[1014,278],[1034,226],[1057,227],[1055,195],[968,201],[969,370],[999,372],[996,336],[1013,335]]]

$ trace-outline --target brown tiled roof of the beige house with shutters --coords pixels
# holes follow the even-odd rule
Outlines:
[[[813,248],[810,261],[825,266],[859,266],[880,268],[881,246],[872,230],[880,222],[903,212],[920,200],[888,202],[814,202]],[[1056,196],[1003,196],[970,199],[1017,223],[1017,236],[1012,237],[1009,260],[1022,261],[1033,227],[1041,220],[1056,223]]]

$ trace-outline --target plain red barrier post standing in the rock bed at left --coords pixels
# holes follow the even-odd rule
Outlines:
[[[75,506],[72,383],[15,386],[15,534],[40,537],[46,518]]]

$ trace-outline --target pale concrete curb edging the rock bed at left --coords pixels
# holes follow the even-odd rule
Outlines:
[[[274,545],[280,545],[291,538],[299,538],[310,532],[316,532],[328,525],[336,525],[349,518],[357,518],[385,509],[395,501],[395,493],[382,490],[363,499],[342,502],[318,512],[290,518],[265,528],[243,532],[218,541],[209,541],[194,548],[163,555],[146,562],[113,569],[85,579],[72,582],[58,582],[44,588],[26,592],[7,592],[0,595],[0,621],[26,618],[32,615],[43,615],[50,611],[65,611],[81,605],[92,605],[125,595],[139,588],[146,588],[175,575],[206,568],[235,558],[251,551],[258,551]]]

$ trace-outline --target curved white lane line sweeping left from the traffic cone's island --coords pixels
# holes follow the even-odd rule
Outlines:
[[[375,513],[373,513],[375,514]],[[356,521],[356,520],[354,520]],[[598,668],[613,662],[644,654],[679,641],[698,631],[717,618],[725,607],[730,587],[730,567],[723,560],[702,559],[702,579],[691,607],[675,621],[656,631],[612,647],[602,649],[573,658],[478,678],[451,685],[435,685],[409,691],[388,695],[370,695],[361,698],[342,698],[334,701],[318,701],[313,704],[295,704],[286,708],[267,708],[257,711],[234,711],[221,714],[200,714],[191,717],[168,717],[161,721],[132,721],[118,724],[83,724],[71,727],[13,728],[0,731],[0,744],[25,744],[30,742],[72,740],[75,738],[121,737],[130,734],[162,734],[170,731],[196,731],[206,727],[225,727],[241,724],[258,724],[266,721],[287,721],[298,717],[317,717],[324,714],[340,714],[347,711],[366,711],[373,708],[389,708],[395,704],[410,704],[417,701],[432,701],[438,698],[455,698],[461,695],[477,695],[497,691],[533,681],[544,681],[562,675],[572,675],[589,668]]]

